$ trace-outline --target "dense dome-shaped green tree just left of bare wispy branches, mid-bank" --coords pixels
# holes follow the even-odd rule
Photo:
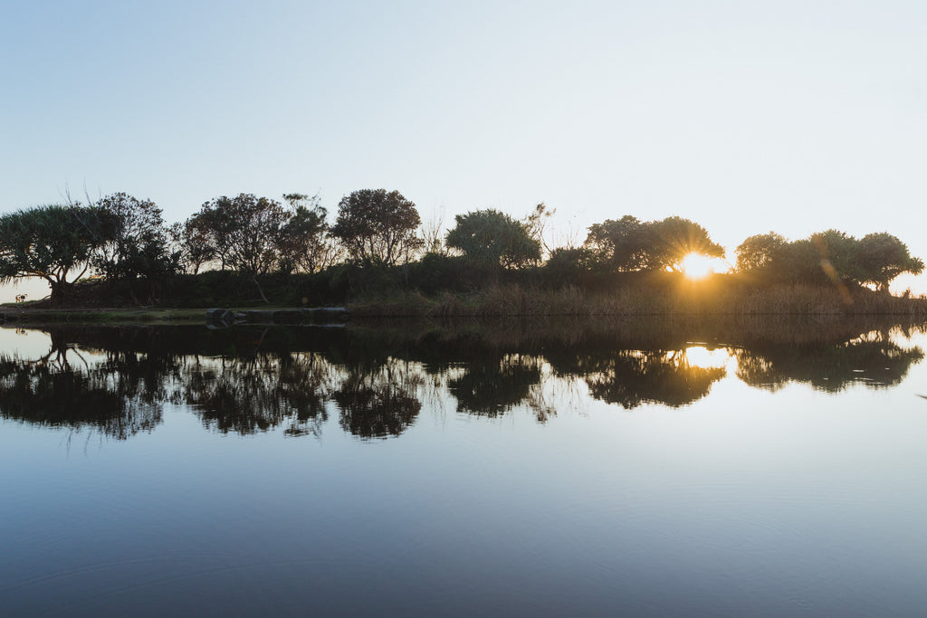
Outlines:
[[[467,259],[486,265],[517,268],[540,259],[540,241],[527,225],[498,210],[475,210],[454,217],[447,245],[464,252]]]

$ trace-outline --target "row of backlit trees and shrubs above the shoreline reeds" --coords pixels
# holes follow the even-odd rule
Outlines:
[[[303,194],[280,201],[216,197],[172,225],[150,200],[117,193],[87,201],[0,217],[0,282],[42,278],[51,287],[51,303],[61,306],[73,284],[89,277],[129,284],[125,289],[135,303],[157,303],[182,275],[220,271],[213,280],[228,284],[233,276],[265,302],[268,282],[301,285],[303,298],[324,301],[377,282],[435,293],[522,274],[524,281],[543,285],[620,279],[618,273],[680,271],[692,254],[725,253],[704,227],[680,217],[606,220],[591,225],[579,246],[549,246],[545,224],[551,211],[543,204],[522,219],[474,210],[457,215],[444,233],[438,224],[423,225],[413,202],[385,189],[344,196],[334,223],[317,197]],[[892,234],[857,239],[829,230],[792,242],[777,233],[751,236],[737,247],[733,270],[756,284],[865,285],[887,292],[899,274],[918,274],[923,267]],[[308,283],[295,276],[300,274],[309,276]],[[288,299],[294,294],[298,290]]]

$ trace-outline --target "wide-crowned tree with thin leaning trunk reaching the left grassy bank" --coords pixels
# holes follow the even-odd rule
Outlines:
[[[289,221],[286,210],[273,199],[243,193],[216,197],[195,216],[222,265],[248,276],[261,299],[270,302],[258,275],[270,271],[280,258],[281,229]]]

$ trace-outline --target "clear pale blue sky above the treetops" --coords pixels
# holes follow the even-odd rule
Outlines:
[[[0,0],[0,213],[398,189],[927,259],[927,3]],[[927,292],[925,276],[895,285]],[[26,287],[20,286],[20,290]],[[16,291],[0,288],[0,301]]]

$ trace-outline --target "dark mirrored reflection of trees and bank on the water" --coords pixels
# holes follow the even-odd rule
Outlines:
[[[362,439],[402,435],[423,406],[541,423],[551,390],[584,384],[626,410],[679,408],[728,378],[776,390],[889,387],[923,359],[922,324],[872,322],[552,322],[324,328],[44,329],[47,353],[0,355],[0,415],[126,439],[167,404],[241,435],[282,427],[321,435],[330,417]],[[728,365],[736,366],[732,372]],[[575,391],[573,391],[575,392]]]

